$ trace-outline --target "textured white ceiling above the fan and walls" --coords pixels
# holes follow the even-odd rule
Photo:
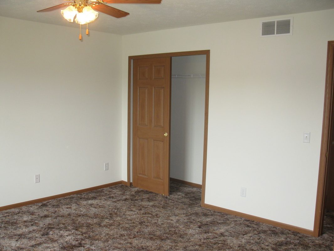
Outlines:
[[[62,0],[0,0],[0,16],[78,27],[66,21],[59,10],[36,12],[63,3]],[[129,12],[115,18],[104,13],[89,24],[91,30],[133,34],[208,23],[289,15],[334,9],[334,0],[162,0],[161,4],[108,4]]]

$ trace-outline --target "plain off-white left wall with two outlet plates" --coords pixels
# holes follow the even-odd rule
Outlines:
[[[122,179],[122,38],[78,32],[0,17],[0,206]]]

